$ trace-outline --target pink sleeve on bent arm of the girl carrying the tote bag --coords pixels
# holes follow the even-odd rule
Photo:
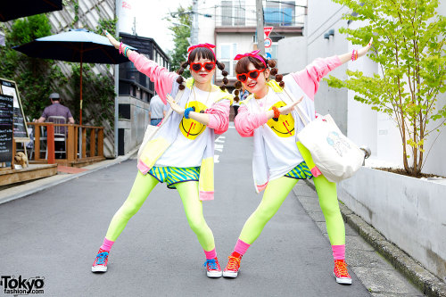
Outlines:
[[[255,100],[255,99],[251,99]],[[234,125],[238,134],[242,137],[251,137],[254,135],[254,129],[268,121],[267,113],[250,113],[246,105],[238,108],[238,114],[235,117]]]

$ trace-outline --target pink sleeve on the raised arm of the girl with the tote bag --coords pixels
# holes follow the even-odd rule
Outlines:
[[[304,70],[292,73],[291,75],[301,87],[302,91],[314,100],[314,95],[318,92],[320,79],[341,64],[342,62],[337,55],[329,58],[318,58],[305,67]]]

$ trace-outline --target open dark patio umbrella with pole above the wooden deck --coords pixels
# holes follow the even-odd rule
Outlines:
[[[135,47],[129,47],[136,50]],[[68,32],[37,38],[28,44],[12,48],[34,58],[80,62],[80,125],[82,125],[82,63],[128,62],[128,58],[120,54],[107,37],[87,29],[70,29]]]

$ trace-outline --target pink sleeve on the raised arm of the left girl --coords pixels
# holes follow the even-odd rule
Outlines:
[[[143,54],[132,52],[128,59],[135,64],[138,71],[144,73],[155,84],[155,91],[160,95],[161,100],[166,104],[166,95],[172,91],[172,85],[178,74],[169,72],[156,62],[147,59]]]

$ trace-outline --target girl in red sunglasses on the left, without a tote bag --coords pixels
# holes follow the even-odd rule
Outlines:
[[[111,245],[128,220],[141,208],[154,186],[166,182],[169,188],[177,188],[189,226],[202,245],[207,276],[220,277],[222,272],[214,236],[202,215],[202,201],[213,199],[215,134],[227,131],[229,107],[233,100],[225,86],[211,84],[216,65],[223,70],[224,64],[216,60],[212,50],[214,45],[194,45],[189,47],[187,62],[181,65],[178,72],[169,72],[144,55],[130,50],[127,45],[122,45],[106,31],[105,35],[111,45],[135,63],[137,70],[151,78],[161,100],[164,104],[169,103],[174,112],[142,145],[135,183],[127,200],[111,219],[92,271],[107,270]],[[192,78],[184,81],[181,74],[187,66],[191,67]],[[227,84],[227,72],[224,70],[223,75],[223,82]]]

